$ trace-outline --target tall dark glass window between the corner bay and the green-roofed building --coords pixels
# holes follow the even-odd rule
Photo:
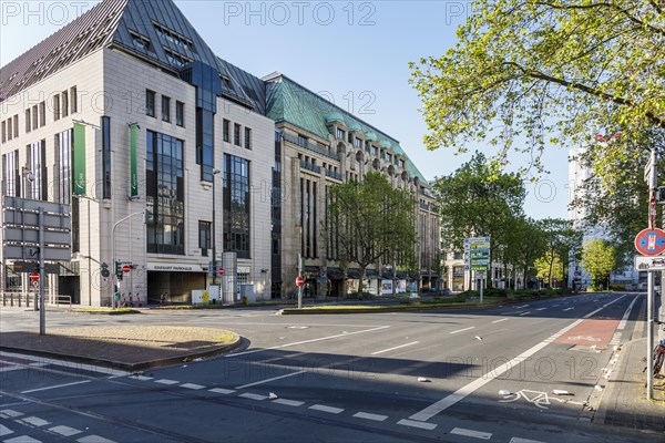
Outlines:
[[[249,161],[224,154],[224,250],[238,258],[249,253]]]

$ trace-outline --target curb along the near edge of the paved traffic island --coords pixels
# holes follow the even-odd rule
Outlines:
[[[109,360],[109,359],[90,358],[90,357],[84,357],[84,356],[71,356],[71,354],[64,354],[64,353],[59,353],[59,352],[32,350],[32,349],[27,349],[27,348],[4,347],[4,346],[0,346],[0,351],[24,353],[24,354],[30,354],[30,356],[39,356],[39,357],[45,357],[45,358],[51,358],[51,359],[71,361],[71,362],[75,362],[75,363],[93,364],[93,365],[99,365],[99,367],[103,367],[103,368],[115,369],[115,370],[121,370],[121,371],[126,371],[126,372],[135,372],[135,371],[144,371],[146,369],[163,368],[163,367],[178,364],[178,363],[182,363],[184,359],[193,360],[193,359],[197,359],[197,358],[205,358],[205,357],[212,357],[212,356],[216,356],[216,354],[221,354],[221,353],[231,352],[231,351],[239,348],[243,342],[241,336],[236,334],[235,332],[234,332],[234,334],[236,336],[236,338],[233,342],[223,344],[219,347],[215,347],[214,349],[211,349],[211,350],[206,350],[203,352],[182,353],[180,356],[168,357],[165,359],[142,361],[142,362],[137,362],[137,363],[126,363],[123,361],[114,361],[114,360]]]

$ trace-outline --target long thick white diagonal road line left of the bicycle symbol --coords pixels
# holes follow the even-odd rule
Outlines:
[[[580,324],[581,322],[582,322],[582,319],[575,320],[573,323],[563,328],[557,333],[563,334],[563,333],[567,332],[569,330],[573,329],[574,327],[576,327],[577,324]],[[481,375],[480,378],[468,383],[467,385],[463,385],[462,388],[454,391],[452,394],[444,396],[443,399],[424,408],[422,411],[417,412],[413,415],[409,416],[409,419],[418,420],[418,421],[422,421],[422,422],[431,419],[432,416],[437,415],[439,412],[452,406],[453,404],[456,404],[459,401],[464,400],[468,395],[473,393],[475,390],[482,388],[483,385],[485,385],[490,381],[494,380],[495,378],[500,377],[501,374],[508,372],[512,368],[516,368],[525,359],[530,358],[531,356],[533,356],[534,353],[536,353],[538,351],[540,351],[548,344],[550,344],[548,341],[544,341],[544,340],[541,341],[540,343],[538,343],[534,347],[522,352],[520,356],[515,357],[511,361],[503,363],[498,368],[494,368],[493,371],[490,371],[490,372],[485,373],[484,375]]]

